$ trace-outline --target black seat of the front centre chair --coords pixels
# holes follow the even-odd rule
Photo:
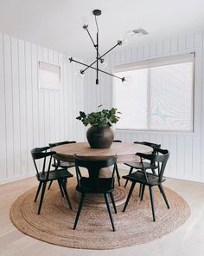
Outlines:
[[[114,189],[114,185],[112,186],[112,179],[108,178],[99,178],[99,183],[96,189],[92,187],[92,181],[89,178],[82,177],[80,179],[80,186],[77,185],[76,190],[81,193],[88,194],[104,194],[110,193]]]

